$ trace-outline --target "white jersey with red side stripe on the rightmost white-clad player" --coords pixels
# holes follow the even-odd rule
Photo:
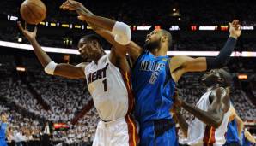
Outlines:
[[[210,108],[210,96],[211,91],[207,91],[198,101],[196,107],[207,111]],[[206,126],[204,122],[195,118],[188,126],[187,143],[194,146],[203,146],[212,144],[214,146],[221,146],[226,142],[225,134],[227,132],[227,126],[229,123],[230,108],[227,113],[224,114],[222,124],[217,129],[212,126]]]

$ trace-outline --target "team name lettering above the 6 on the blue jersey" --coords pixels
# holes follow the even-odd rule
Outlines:
[[[165,67],[164,63],[155,63],[154,61],[142,61],[140,70],[159,72]]]

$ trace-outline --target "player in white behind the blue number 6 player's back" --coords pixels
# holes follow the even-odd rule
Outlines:
[[[231,114],[229,108],[231,77],[223,69],[215,69],[205,73],[202,82],[206,85],[207,92],[199,99],[196,106],[175,96],[176,107],[186,109],[194,115],[194,119],[186,123],[178,110],[174,110],[174,117],[178,120],[189,145],[221,146],[226,142],[225,133]]]

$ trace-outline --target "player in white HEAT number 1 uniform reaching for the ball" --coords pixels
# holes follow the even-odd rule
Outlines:
[[[77,66],[57,64],[46,55],[36,41],[34,32],[27,31],[18,24],[21,32],[34,47],[45,72],[70,79],[87,79],[88,91],[94,100],[101,121],[97,126],[94,146],[136,146],[138,143],[137,126],[131,117],[134,98],[131,92],[130,67],[126,61],[124,45],[131,40],[131,29],[122,22],[111,21],[111,31],[93,26],[94,31],[103,38],[113,38],[111,53],[107,55],[101,47],[101,40],[95,35],[80,39],[78,49],[83,58],[92,60],[89,64]],[[126,30],[120,32],[120,30]],[[109,39],[108,39],[109,40]]]

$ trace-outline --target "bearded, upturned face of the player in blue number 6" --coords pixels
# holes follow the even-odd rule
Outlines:
[[[155,30],[150,32],[145,40],[144,48],[147,50],[154,50],[160,47],[161,43],[161,32],[159,30]]]

